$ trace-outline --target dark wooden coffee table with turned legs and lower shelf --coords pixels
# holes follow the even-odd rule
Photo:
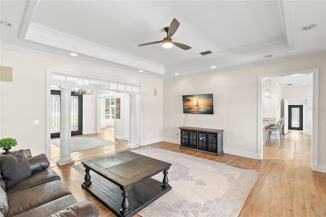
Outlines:
[[[132,216],[172,189],[171,164],[130,151],[83,161],[82,187],[117,216]],[[91,179],[90,170],[100,176]],[[150,178],[162,172],[162,182]]]

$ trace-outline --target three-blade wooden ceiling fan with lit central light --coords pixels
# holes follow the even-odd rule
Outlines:
[[[164,28],[165,32],[167,33],[166,38],[164,38],[161,41],[154,41],[154,42],[150,42],[150,43],[140,44],[138,46],[145,46],[145,45],[150,45],[150,44],[158,44],[158,43],[162,42],[162,46],[165,47],[165,48],[172,47],[173,45],[175,45],[177,47],[180,47],[181,49],[184,49],[184,50],[192,48],[192,47],[189,47],[188,45],[172,41],[171,37],[177,31],[177,29],[179,28],[179,25],[180,25],[180,22],[176,18],[173,18],[173,20],[172,20],[172,22],[170,24],[170,27]]]

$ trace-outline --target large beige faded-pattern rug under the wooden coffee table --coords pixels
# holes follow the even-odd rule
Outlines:
[[[172,164],[168,171],[172,190],[138,213],[144,217],[237,216],[259,175],[251,169],[155,147],[133,152]],[[85,174],[83,165],[74,167]],[[163,174],[152,178],[162,181]]]

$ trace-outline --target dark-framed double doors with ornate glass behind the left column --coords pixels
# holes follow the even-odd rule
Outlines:
[[[60,137],[60,91],[51,90],[50,97],[51,138]],[[71,93],[71,135],[83,134],[83,95]]]

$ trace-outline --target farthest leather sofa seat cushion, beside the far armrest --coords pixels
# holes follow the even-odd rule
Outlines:
[[[45,182],[53,181],[53,180],[60,180],[60,176],[53,170],[47,169],[43,170],[38,173],[32,174],[30,177],[26,178],[25,180],[15,184],[6,189],[7,194],[21,191],[23,189],[34,187],[39,184],[43,184]]]

